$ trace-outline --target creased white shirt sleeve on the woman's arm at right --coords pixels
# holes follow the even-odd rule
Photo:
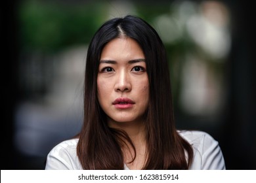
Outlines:
[[[202,148],[202,169],[203,170],[224,170],[226,169],[223,153],[219,142],[205,133]]]

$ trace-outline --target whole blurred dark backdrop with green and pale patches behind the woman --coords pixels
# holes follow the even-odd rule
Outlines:
[[[1,169],[44,169],[79,132],[87,46],[133,14],[165,44],[179,129],[212,135],[226,169],[256,169],[255,37],[246,1],[14,0],[1,5]]]

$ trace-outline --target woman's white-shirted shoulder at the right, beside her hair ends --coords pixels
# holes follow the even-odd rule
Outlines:
[[[178,132],[194,150],[194,159],[190,169],[225,169],[219,142],[211,135],[203,131]]]

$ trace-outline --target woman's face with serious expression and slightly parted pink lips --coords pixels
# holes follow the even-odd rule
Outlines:
[[[149,85],[144,54],[131,38],[114,39],[102,50],[98,67],[98,101],[109,123],[142,122]]]

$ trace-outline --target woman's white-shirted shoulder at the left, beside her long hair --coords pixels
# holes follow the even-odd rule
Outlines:
[[[77,157],[78,139],[60,142],[49,152],[45,169],[81,169]]]

